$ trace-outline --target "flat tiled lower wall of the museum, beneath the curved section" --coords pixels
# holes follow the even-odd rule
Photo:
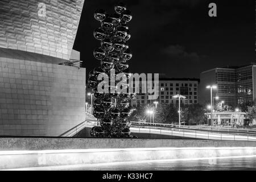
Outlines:
[[[84,68],[0,57],[0,135],[54,137],[84,120]]]

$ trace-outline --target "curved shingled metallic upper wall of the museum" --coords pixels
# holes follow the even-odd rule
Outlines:
[[[68,60],[83,5],[84,0],[0,0],[0,47]]]

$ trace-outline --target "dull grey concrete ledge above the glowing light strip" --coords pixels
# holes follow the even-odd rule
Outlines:
[[[256,147],[256,142],[130,138],[0,138],[0,151],[152,147]]]

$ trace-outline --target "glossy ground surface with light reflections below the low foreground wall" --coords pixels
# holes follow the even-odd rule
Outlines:
[[[256,171],[256,156],[228,157],[228,158],[209,158],[209,159],[177,159],[177,160],[150,160],[142,162],[116,162],[102,164],[81,164],[69,166],[52,166],[37,168],[21,168],[18,170],[60,170],[60,171],[83,171],[83,170],[102,170],[102,171],[203,171],[203,170],[253,170]]]

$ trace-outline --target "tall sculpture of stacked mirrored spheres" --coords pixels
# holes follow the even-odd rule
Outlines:
[[[123,3],[118,3],[114,10],[115,13],[111,15],[102,9],[94,13],[94,18],[100,21],[101,27],[96,28],[93,35],[101,41],[101,46],[94,49],[93,55],[100,60],[101,66],[89,73],[88,86],[93,89],[96,97],[93,115],[100,119],[101,126],[92,128],[92,137],[132,137],[129,129],[132,109],[129,102],[135,98],[135,94],[117,92],[116,86],[109,86],[108,92],[98,90],[98,84],[102,81],[97,80],[100,74],[106,74],[110,78],[110,71],[114,69],[115,76],[123,73],[129,78],[130,75],[127,69],[132,53],[126,42],[131,38],[127,27],[127,23],[132,19],[131,11],[127,10]],[[122,85],[122,88],[128,88],[128,84]]]

